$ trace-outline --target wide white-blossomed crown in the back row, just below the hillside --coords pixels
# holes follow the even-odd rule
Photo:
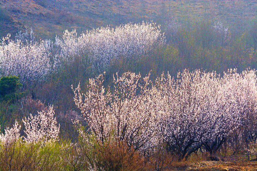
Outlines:
[[[125,24],[119,27],[101,27],[77,36],[76,30],[63,33],[63,40],[56,37],[60,47],[59,58],[73,60],[75,54],[87,53],[93,67],[99,71],[108,68],[110,62],[125,56],[127,60],[138,60],[154,45],[163,44],[160,26],[154,23]]]

